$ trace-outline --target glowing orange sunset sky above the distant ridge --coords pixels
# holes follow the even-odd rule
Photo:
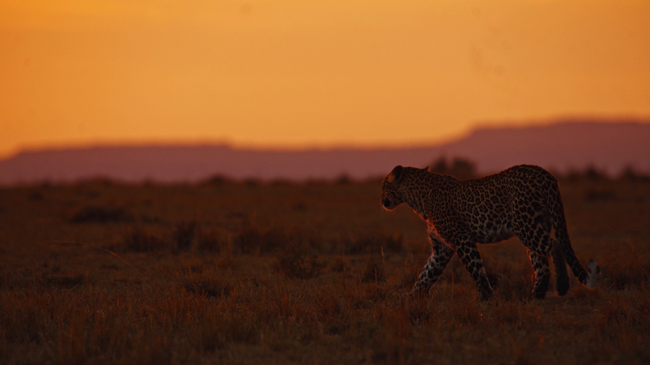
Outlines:
[[[0,157],[422,144],[558,116],[650,116],[650,1],[0,0]]]

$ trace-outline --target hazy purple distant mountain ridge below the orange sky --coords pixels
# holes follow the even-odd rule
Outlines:
[[[276,151],[227,145],[105,146],[19,153],[0,160],[0,184],[76,181],[196,182],[233,179],[352,179],[378,177],[398,165],[426,166],[440,156],[476,162],[482,173],[515,164],[554,171],[594,166],[619,173],[626,166],[650,172],[650,120],[564,122],[530,127],[479,128],[447,144],[374,149]]]

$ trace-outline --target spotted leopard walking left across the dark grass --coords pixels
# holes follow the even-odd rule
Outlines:
[[[428,168],[395,166],[382,181],[381,205],[408,205],[426,222],[432,253],[411,296],[427,296],[454,255],[471,275],[478,300],[494,296],[499,275],[487,275],[477,244],[495,244],[516,236],[525,246],[534,281],[532,294],[544,299],[552,260],[558,296],[569,291],[567,265],[578,283],[595,288],[600,268],[588,271],[571,247],[558,179],[534,165],[517,165],[477,179],[459,180]]]

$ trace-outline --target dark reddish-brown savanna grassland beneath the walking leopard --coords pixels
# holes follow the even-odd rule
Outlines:
[[[495,299],[430,254],[380,183],[0,189],[1,364],[643,364],[650,362],[650,183],[562,181],[596,290],[530,297],[515,239],[479,249]],[[552,285],[551,285],[552,288]]]

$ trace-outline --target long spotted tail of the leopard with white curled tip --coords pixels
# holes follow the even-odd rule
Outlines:
[[[557,183],[553,184],[549,194],[551,194],[549,207],[551,208],[553,229],[555,231],[555,238],[559,242],[559,247],[554,247],[554,250],[556,253],[558,250],[564,252],[566,262],[569,264],[569,268],[571,268],[573,275],[575,275],[580,284],[587,288],[595,288],[601,276],[601,269],[594,260],[589,260],[589,271],[584,270],[578,258],[575,257],[575,252],[573,251],[573,247],[571,247],[571,241],[569,241],[569,232],[567,231],[567,223],[564,217],[564,205],[562,205],[562,197],[560,196],[560,189]],[[557,261],[554,262],[554,264],[557,263]],[[568,285],[567,282],[566,289],[568,289]],[[564,293],[566,293],[565,290]],[[558,290],[558,294],[562,295],[561,290]]]

